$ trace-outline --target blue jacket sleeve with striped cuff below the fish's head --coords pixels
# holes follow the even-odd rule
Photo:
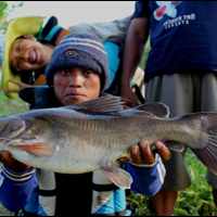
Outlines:
[[[5,166],[0,173],[0,201],[10,212],[22,209],[37,187],[35,168],[13,173]]]

